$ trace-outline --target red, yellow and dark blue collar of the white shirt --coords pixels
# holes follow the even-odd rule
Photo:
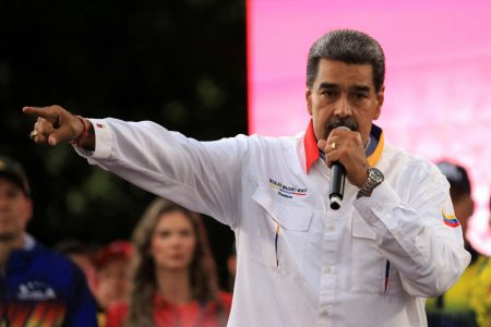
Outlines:
[[[321,157],[312,120],[310,120],[306,134],[303,135],[303,147],[306,149],[306,172],[309,173],[312,165]],[[379,162],[382,157],[383,148],[384,133],[381,128],[372,124],[370,141],[367,146],[367,162],[370,167],[373,167]]]

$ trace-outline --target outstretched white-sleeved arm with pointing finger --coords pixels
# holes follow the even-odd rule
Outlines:
[[[149,121],[89,121],[59,106],[23,110],[38,118],[32,132],[36,143],[75,144],[91,164],[191,210],[237,225],[246,136],[199,142]]]

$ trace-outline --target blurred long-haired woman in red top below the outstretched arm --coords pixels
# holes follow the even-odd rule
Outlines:
[[[218,290],[201,217],[157,198],[133,232],[129,301],[111,306],[107,327],[226,326],[231,294]]]

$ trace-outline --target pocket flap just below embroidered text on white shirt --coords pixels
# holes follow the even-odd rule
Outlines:
[[[272,196],[268,187],[260,186],[252,195],[259,205],[261,205],[268,215],[283,228],[292,231],[308,231],[312,220],[313,209],[287,204],[287,201],[276,199]]]

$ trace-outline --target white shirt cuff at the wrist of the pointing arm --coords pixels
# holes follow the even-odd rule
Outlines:
[[[112,130],[104,119],[88,119],[95,132],[95,150],[73,145],[75,152],[87,159],[106,159],[111,155]]]

